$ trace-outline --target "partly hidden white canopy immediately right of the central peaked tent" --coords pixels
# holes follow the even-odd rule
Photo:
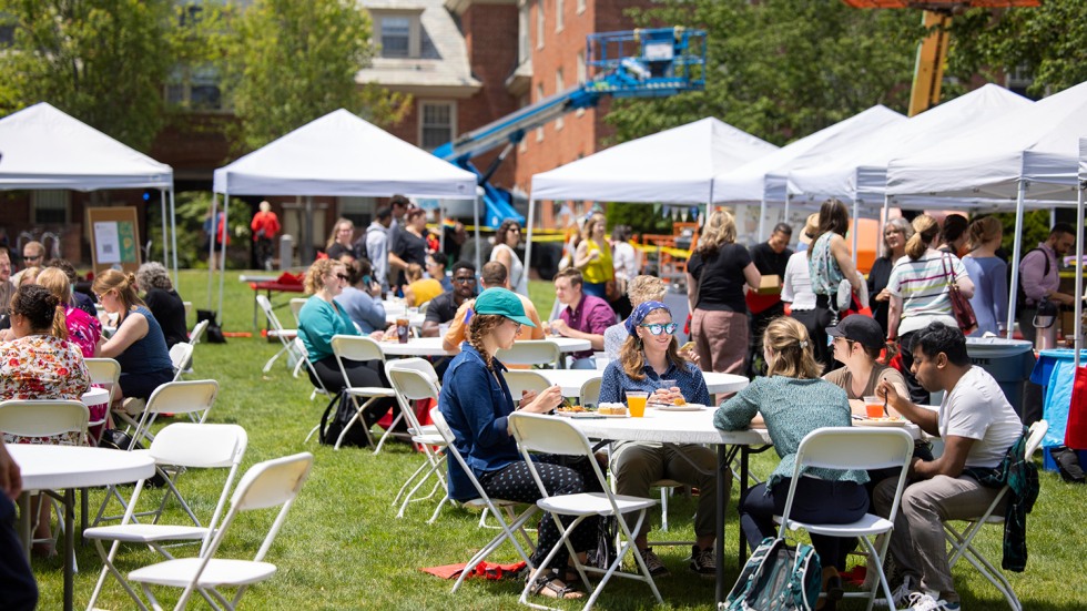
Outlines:
[[[785,218],[792,204],[789,174],[795,167],[819,164],[839,151],[851,150],[859,140],[906,121],[902,114],[876,104],[849,119],[806,135],[773,153],[713,177],[714,203],[759,202],[759,241],[764,234],[768,204],[784,204]],[[854,218],[859,211],[854,211]],[[856,232],[854,232],[855,236]],[[854,244],[853,252],[856,253]]]

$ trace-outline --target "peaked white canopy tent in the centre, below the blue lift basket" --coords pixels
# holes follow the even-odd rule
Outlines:
[[[528,201],[525,267],[531,263],[539,200],[704,204],[713,201],[714,175],[776,150],[711,116],[536,174]]]

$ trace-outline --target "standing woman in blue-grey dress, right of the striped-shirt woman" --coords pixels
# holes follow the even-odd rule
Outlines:
[[[1008,319],[1008,265],[996,256],[1004,240],[1004,225],[995,216],[984,216],[971,223],[963,266],[974,282],[971,306],[977,316],[977,330],[973,336],[986,333],[1000,335]]]

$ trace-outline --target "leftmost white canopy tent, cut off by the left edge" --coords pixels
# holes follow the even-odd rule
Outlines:
[[[173,254],[177,276],[173,170],[47,102],[0,119],[0,190],[158,189],[162,206],[162,255]],[[166,194],[170,200],[167,243]]]

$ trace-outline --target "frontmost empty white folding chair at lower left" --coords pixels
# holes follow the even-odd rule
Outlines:
[[[155,599],[152,585],[182,588],[175,610],[184,609],[194,590],[207,598],[214,598],[225,609],[235,609],[246,589],[275,574],[275,564],[264,562],[287,511],[302,489],[302,485],[313,468],[313,455],[296,454],[275,460],[258,462],[242,477],[231,498],[231,510],[215,531],[214,538],[197,558],[166,560],[129,573],[129,581],[140,583],[148,600],[155,610],[162,604]],[[220,546],[230,531],[234,518],[241,511],[280,507],[280,511],[268,529],[253,560],[215,558]],[[232,599],[223,595],[219,588],[237,588]]]

